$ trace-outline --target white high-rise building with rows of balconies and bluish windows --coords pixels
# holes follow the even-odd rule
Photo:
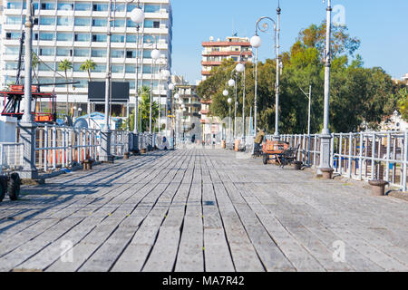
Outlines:
[[[116,116],[125,116],[135,103],[136,79],[136,24],[130,13],[137,1],[116,0],[112,3],[112,82],[130,82],[130,102],[112,104]],[[102,103],[91,106],[88,102],[87,72],[81,64],[91,59],[96,63],[91,73],[92,82],[105,82],[107,63],[107,25],[109,0],[33,0],[33,50],[40,63],[35,67],[33,83],[65,82],[64,72],[58,64],[65,59],[73,63],[67,72],[70,109],[103,111]],[[140,28],[139,87],[153,86],[154,101],[164,108],[168,95],[167,81],[160,80],[160,69],[171,68],[172,13],[170,0],[141,0],[146,19]],[[15,82],[20,36],[24,30],[25,1],[3,0],[1,31],[0,86]],[[152,69],[151,50],[160,50],[160,61]],[[24,53],[23,53],[24,55]],[[157,63],[160,63],[157,65]],[[22,65],[24,70],[24,63]],[[22,72],[24,79],[24,72]],[[24,80],[22,80],[24,83]],[[42,86],[42,92],[56,92],[57,111],[65,110],[66,86]],[[129,105],[129,107],[128,107]],[[164,121],[165,122],[165,119]]]

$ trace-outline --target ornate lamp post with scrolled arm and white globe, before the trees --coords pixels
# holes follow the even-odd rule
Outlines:
[[[267,33],[269,30],[269,25],[264,22],[262,25],[261,23],[263,21],[269,20],[274,24],[274,39],[275,39],[275,53],[277,57],[277,82],[275,84],[275,134],[274,134],[274,140],[280,140],[280,135],[279,135],[279,76],[280,76],[280,68],[281,68],[281,62],[280,62],[280,55],[279,55],[279,36],[280,36],[280,29],[279,29],[279,22],[280,22],[280,13],[281,13],[280,5],[277,5],[277,23],[270,18],[270,17],[261,17],[257,20],[257,24],[255,25],[255,35],[251,38],[250,43],[253,47],[256,48],[256,55],[257,55],[257,48],[261,46],[262,41],[261,38],[258,36],[258,31]],[[257,58],[257,56],[256,56]],[[255,128],[257,128],[257,60],[256,60],[256,73],[255,73]]]

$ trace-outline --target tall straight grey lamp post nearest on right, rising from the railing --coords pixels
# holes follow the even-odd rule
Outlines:
[[[325,1],[323,1],[325,3]],[[332,136],[329,130],[329,105],[330,105],[330,67],[331,59],[331,28],[332,28],[332,6],[331,0],[327,1],[326,8],[326,42],[325,42],[325,109],[323,131],[320,135],[320,171],[327,179],[332,178],[334,169],[330,166],[330,142]]]

